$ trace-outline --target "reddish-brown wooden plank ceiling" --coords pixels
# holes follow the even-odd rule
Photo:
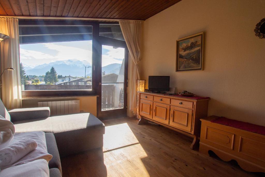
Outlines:
[[[0,0],[0,15],[146,20],[181,0]]]

